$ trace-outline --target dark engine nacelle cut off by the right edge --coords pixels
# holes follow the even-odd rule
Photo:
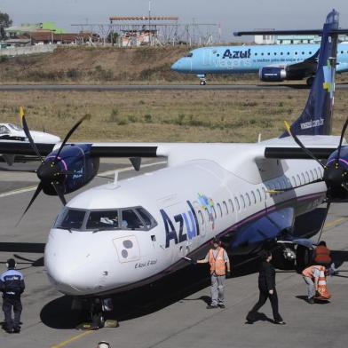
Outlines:
[[[337,161],[338,150],[330,154],[324,180],[328,186],[328,198],[335,202],[348,199],[348,146],[342,146]]]

